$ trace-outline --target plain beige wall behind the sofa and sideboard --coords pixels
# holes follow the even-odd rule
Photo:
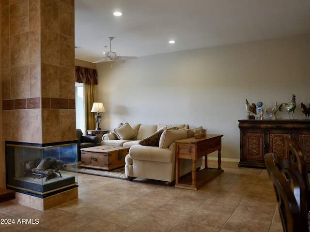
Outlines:
[[[245,101],[263,108],[310,103],[310,35],[239,43],[96,65],[102,129],[120,122],[188,123],[224,134],[222,157],[239,159],[238,120]],[[267,115],[264,115],[268,118]],[[279,112],[282,119],[287,112]],[[212,154],[215,156],[215,154]]]

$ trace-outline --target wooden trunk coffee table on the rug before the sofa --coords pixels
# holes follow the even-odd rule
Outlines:
[[[93,146],[81,149],[81,165],[84,168],[112,170],[125,165],[129,147]]]

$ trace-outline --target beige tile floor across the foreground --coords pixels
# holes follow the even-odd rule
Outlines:
[[[210,160],[209,167],[217,167]],[[224,173],[199,190],[163,182],[78,174],[78,200],[46,211],[0,203],[0,232],[281,232],[276,197],[265,169],[222,161]]]

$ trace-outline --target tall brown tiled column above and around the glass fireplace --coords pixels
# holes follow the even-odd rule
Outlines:
[[[74,0],[1,0],[0,160],[5,141],[76,140],[74,55]],[[5,162],[0,163],[5,188]],[[77,198],[77,189],[69,195]]]

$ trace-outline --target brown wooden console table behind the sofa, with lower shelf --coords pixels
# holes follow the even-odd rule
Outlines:
[[[187,138],[175,141],[175,187],[197,190],[224,171],[221,169],[222,134],[207,134],[206,138]],[[208,168],[207,155],[217,151],[218,167]],[[204,157],[204,169],[197,171],[196,161]],[[192,160],[192,172],[180,177],[179,159]]]

